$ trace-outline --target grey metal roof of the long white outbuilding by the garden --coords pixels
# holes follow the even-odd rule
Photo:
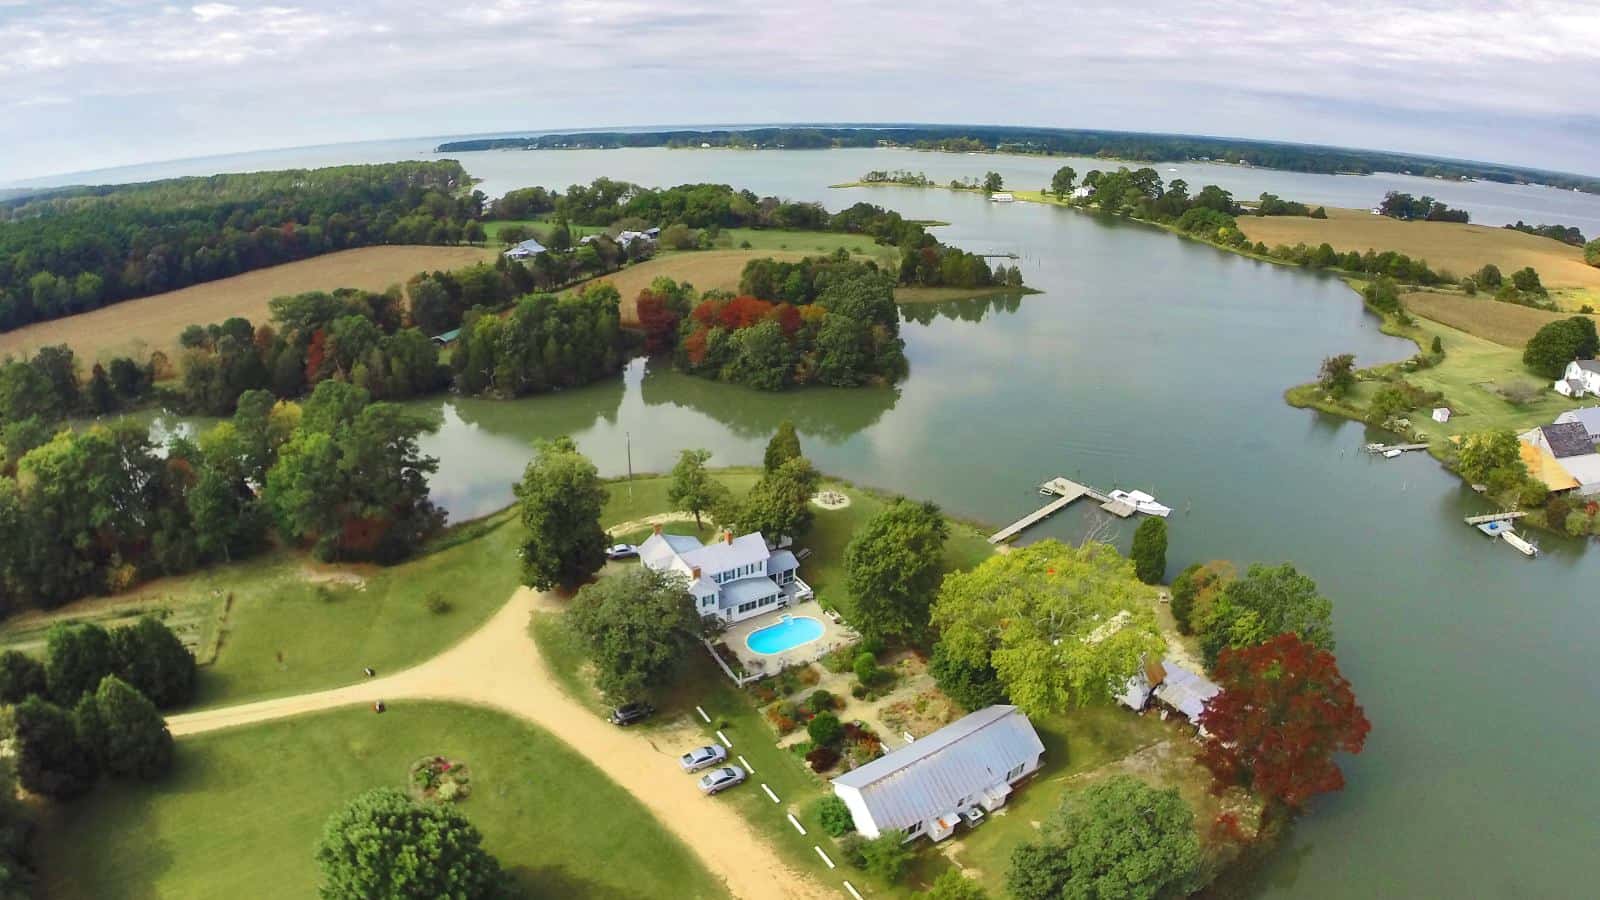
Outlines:
[[[1006,772],[1045,751],[1034,725],[1016,706],[989,706],[931,735],[834,778],[854,788],[878,830],[906,828],[954,812]]]

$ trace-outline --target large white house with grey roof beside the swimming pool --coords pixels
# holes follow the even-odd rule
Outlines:
[[[800,560],[787,549],[768,549],[766,538],[733,532],[702,544],[693,535],[656,533],[638,544],[638,559],[656,572],[677,572],[690,581],[701,617],[734,623],[763,612],[810,601],[811,586],[800,580]]]

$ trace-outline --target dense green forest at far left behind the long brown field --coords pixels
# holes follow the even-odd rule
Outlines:
[[[72,187],[0,202],[0,330],[371,243],[483,240],[454,160]]]

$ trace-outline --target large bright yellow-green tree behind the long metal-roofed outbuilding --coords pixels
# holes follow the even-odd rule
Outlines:
[[[1165,649],[1146,594],[1115,548],[1045,540],[946,575],[933,626],[942,653],[992,666],[1022,709],[1061,711],[1106,698]]]

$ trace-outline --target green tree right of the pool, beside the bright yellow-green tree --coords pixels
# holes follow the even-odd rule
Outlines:
[[[862,525],[845,548],[850,621],[867,639],[914,637],[944,569],[950,527],[933,503],[896,500]]]

